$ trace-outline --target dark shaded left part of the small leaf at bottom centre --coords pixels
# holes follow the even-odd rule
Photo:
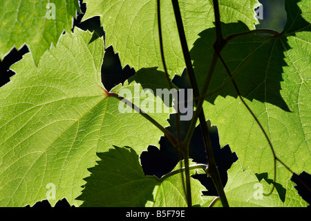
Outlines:
[[[139,163],[138,154],[131,148],[115,148],[97,153],[100,161],[88,170],[84,190],[77,200],[82,206],[145,206],[153,201],[153,189],[158,181],[146,177]]]

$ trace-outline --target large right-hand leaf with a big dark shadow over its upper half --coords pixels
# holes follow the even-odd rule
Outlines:
[[[245,102],[270,137],[276,156],[294,173],[310,173],[310,0],[285,1],[285,9],[288,21],[279,37],[238,37],[222,55]],[[238,24],[225,24],[230,26]],[[195,43],[198,50],[192,51],[194,55],[204,48],[202,39],[200,42]],[[210,56],[205,57],[207,64]],[[204,82],[202,71],[198,71],[202,61],[196,59],[198,82]],[[243,168],[268,173],[268,179],[274,179],[272,150],[220,62],[213,78],[211,91],[215,93],[205,99],[203,108],[211,124],[218,127],[220,145],[229,144]],[[285,188],[291,175],[277,163],[276,182]]]

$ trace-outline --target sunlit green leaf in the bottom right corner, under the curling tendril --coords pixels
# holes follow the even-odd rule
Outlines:
[[[258,178],[249,170],[243,170],[241,163],[236,161],[227,171],[228,181],[224,188],[229,206],[231,207],[305,207],[308,203],[296,193],[293,188],[294,183],[290,180],[287,182],[288,191],[285,200],[281,200],[276,189],[271,195],[265,195],[272,190],[272,184],[262,179],[258,182]],[[210,206],[216,197],[204,196],[205,204],[202,206]],[[217,200],[213,207],[222,206],[221,201]]]

